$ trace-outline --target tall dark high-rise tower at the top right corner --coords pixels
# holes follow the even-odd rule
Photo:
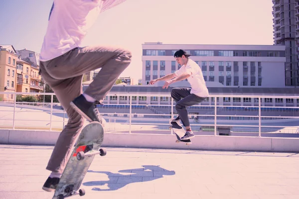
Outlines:
[[[298,0],[272,0],[272,2],[274,45],[286,46],[286,86],[298,86]]]

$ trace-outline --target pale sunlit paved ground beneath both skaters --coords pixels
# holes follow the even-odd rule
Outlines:
[[[53,146],[0,145],[0,199],[51,199]],[[81,199],[299,199],[299,154],[107,148]],[[73,199],[80,197],[73,197]]]

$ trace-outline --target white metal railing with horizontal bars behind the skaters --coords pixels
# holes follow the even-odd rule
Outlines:
[[[60,103],[55,103],[53,102],[53,97],[55,96],[54,93],[13,93],[13,92],[0,92],[0,97],[3,95],[13,95],[13,99],[11,101],[0,101],[0,128],[9,128],[9,129],[16,129],[15,122],[16,121],[22,121],[24,124],[24,127],[18,127],[21,129],[27,129],[25,124],[28,124],[26,122],[34,122],[33,124],[41,124],[42,122],[49,122],[47,123],[47,126],[49,126],[50,131],[52,131],[53,128],[53,123],[55,122],[62,122],[62,125],[60,128],[63,128],[65,123],[67,122],[67,114],[63,110],[63,108],[60,106]],[[32,96],[40,96],[39,100],[40,102],[25,102],[25,101],[16,101],[16,96],[17,95],[32,95]],[[45,98],[43,96],[50,96],[50,102],[45,102]],[[113,94],[108,94],[109,96],[115,96]],[[151,131],[155,130],[166,130],[168,129],[169,126],[169,119],[174,118],[177,114],[174,114],[175,112],[175,102],[171,98],[170,95],[148,95],[148,94],[118,94],[118,96],[127,96],[127,99],[125,103],[110,103],[110,104],[104,104],[100,105],[100,113],[103,115],[103,117],[107,120],[108,123],[121,123],[125,125],[129,125],[129,129],[126,131],[129,131],[129,133],[132,133],[134,129],[132,128],[134,125],[142,125],[142,126],[153,126],[155,125],[154,128],[150,129]],[[137,104],[136,100],[134,100],[135,103],[133,103],[132,97],[168,97],[169,103],[168,104],[150,104],[150,98],[148,98],[149,104]],[[282,129],[287,129],[285,132],[290,133],[290,128],[294,128],[294,131],[292,130],[291,133],[297,133],[298,132],[298,127],[299,127],[299,103],[298,100],[299,96],[246,96],[246,95],[234,95],[234,96],[229,96],[229,95],[210,95],[211,98],[214,100],[212,101],[204,101],[200,103],[199,105],[194,105],[192,108],[195,108],[195,113],[191,112],[193,110],[192,108],[189,111],[189,121],[191,124],[192,129],[210,129],[209,131],[213,132],[213,135],[217,136],[221,129],[223,128],[229,128],[231,132],[257,132],[258,137],[261,137],[261,133],[263,132],[281,132]],[[216,99],[217,98],[254,98],[257,99],[257,101],[254,101],[254,105],[235,105],[236,103],[231,103],[232,105],[221,105],[220,102],[218,102]],[[263,106],[261,99],[264,98],[279,98],[279,99],[296,99],[294,100],[294,106]],[[43,101],[42,101],[43,100]],[[122,100],[123,101],[123,100]],[[208,103],[208,104],[205,104]],[[227,103],[227,102],[224,102]],[[240,102],[241,103],[241,102]],[[280,103],[281,104],[281,103]],[[297,104],[297,106],[295,106]],[[107,110],[113,110],[111,112],[101,112],[101,108],[104,111],[107,105],[113,105],[116,106],[116,108],[107,108]],[[119,106],[118,106],[119,105]],[[136,106],[139,106],[140,110],[136,108]],[[162,112],[160,110],[157,110],[156,108],[152,108],[150,106],[155,106],[158,107],[160,106],[161,108],[166,108],[165,112]],[[4,108],[6,107],[6,108]],[[10,108],[9,108],[10,107]],[[119,108],[117,108],[119,107]],[[234,107],[236,109],[238,108],[248,108],[250,109],[249,112],[246,112],[244,114],[244,111],[239,111],[240,113],[243,114],[237,114],[238,111],[226,111],[225,108],[228,107]],[[254,110],[253,110],[254,108]],[[270,115],[262,115],[262,112],[264,113],[264,109],[267,108],[280,108],[280,114],[284,112],[283,110],[286,109],[284,113],[286,115],[281,116],[281,115],[276,115],[275,111],[273,111],[273,114]],[[288,112],[287,109],[293,109],[294,111]],[[17,109],[17,110],[16,110]],[[24,109],[24,110],[22,110]],[[118,110],[119,112],[114,112],[115,110]],[[139,110],[139,112],[133,112]],[[127,112],[126,112],[127,111]],[[144,112],[143,112],[144,111]],[[197,111],[197,112],[196,112]],[[204,112],[203,114],[199,114],[199,112]],[[220,113],[220,112],[227,113]],[[256,111],[256,115],[254,115]],[[4,115],[1,115],[2,114]],[[9,118],[7,115],[7,112],[12,112],[12,118]],[[25,112],[28,117],[26,118],[26,115],[22,117],[16,117],[16,114],[23,114]],[[43,117],[45,116],[40,116],[41,113],[47,112],[49,113],[49,119],[44,119]],[[25,114],[24,113],[24,114]],[[29,113],[33,113],[29,114]],[[190,114],[191,113],[191,114]],[[192,114],[193,113],[193,114]],[[248,114],[247,114],[248,113]],[[249,114],[250,113],[250,114]],[[269,111],[268,111],[269,113]],[[291,114],[290,114],[291,113]],[[293,113],[293,114],[292,114]],[[61,115],[61,116],[57,116]],[[58,120],[53,119],[55,116],[58,117]],[[41,117],[41,118],[38,118]],[[129,118],[128,118],[129,117]],[[213,118],[213,119],[211,119]],[[236,118],[236,119],[232,119]],[[239,119],[241,118],[241,119]],[[242,118],[253,118],[253,119],[242,119]],[[116,122],[119,120],[118,122]],[[124,121],[121,121],[124,120]],[[1,121],[12,121],[11,126],[6,126],[5,127],[5,122]],[[268,123],[265,123],[266,125],[262,125],[267,121]],[[272,122],[272,123],[271,123]],[[274,122],[274,123],[273,123]],[[289,124],[289,123],[292,124]],[[6,122],[7,123],[7,122]],[[9,122],[8,122],[9,123]],[[2,125],[1,125],[2,124]],[[268,125],[267,125],[268,124]],[[272,125],[274,124],[274,125]],[[281,124],[281,125],[277,125]],[[296,125],[297,124],[297,125]],[[1,127],[2,126],[2,127]],[[166,126],[166,127],[165,127]],[[32,128],[32,127],[30,127]],[[29,129],[30,129],[29,128]],[[141,127],[142,128],[142,127]],[[57,129],[57,125],[56,125]],[[136,128],[138,129],[138,128]],[[136,130],[135,129],[135,130]],[[147,129],[147,128],[146,128]],[[235,129],[235,130],[234,130]],[[238,130],[239,129],[239,130]],[[245,130],[247,129],[247,130]],[[115,130],[115,128],[114,128]],[[120,128],[120,130],[125,130],[123,127]],[[113,131],[112,128],[108,129],[107,131]],[[194,130],[193,130],[194,131]],[[217,134],[218,132],[218,134]],[[171,130],[172,134],[172,130]]]

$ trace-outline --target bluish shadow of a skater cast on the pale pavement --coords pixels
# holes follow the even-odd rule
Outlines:
[[[93,191],[115,191],[125,187],[131,183],[148,182],[163,178],[164,175],[172,176],[175,175],[174,171],[169,171],[161,168],[160,166],[144,165],[143,168],[139,169],[128,169],[120,170],[119,173],[128,174],[118,174],[107,171],[91,171],[90,173],[100,173],[106,174],[109,178],[108,181],[91,181],[83,183],[84,186],[99,186],[93,188]]]

